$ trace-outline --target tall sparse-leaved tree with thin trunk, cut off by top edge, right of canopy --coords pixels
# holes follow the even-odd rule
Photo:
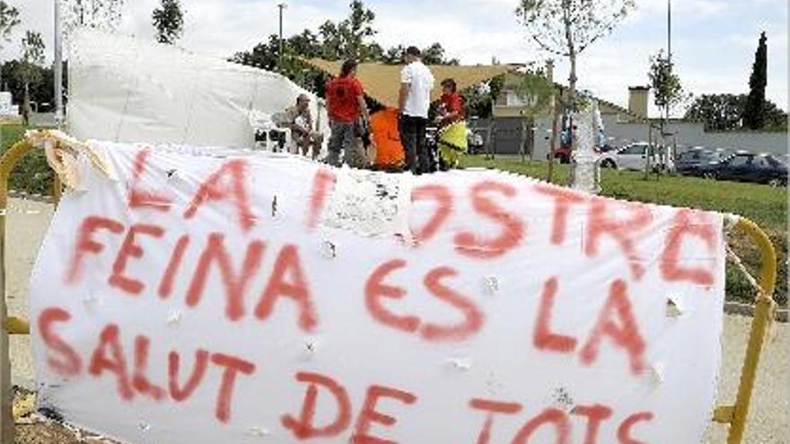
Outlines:
[[[575,110],[576,57],[608,35],[635,7],[634,0],[520,0],[516,15],[538,46],[567,57],[568,107]]]

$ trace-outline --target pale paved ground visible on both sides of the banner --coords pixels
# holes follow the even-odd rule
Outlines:
[[[9,205],[8,300],[13,314],[27,316],[27,284],[52,206],[12,199]],[[719,401],[732,403],[738,385],[751,318],[724,319],[724,356],[719,380]],[[15,336],[11,344],[14,381],[32,387],[33,366],[27,336]],[[772,343],[760,362],[758,387],[747,428],[747,444],[790,442],[790,326],[777,324]],[[724,426],[712,424],[705,442],[725,442]]]

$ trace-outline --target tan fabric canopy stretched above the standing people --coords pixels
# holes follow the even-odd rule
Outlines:
[[[341,61],[329,61],[322,58],[305,60],[321,71],[338,75]],[[436,82],[431,91],[431,100],[439,100],[442,96],[442,87],[439,84],[443,79],[455,79],[459,90],[464,90],[478,83],[486,82],[498,75],[510,71],[512,68],[505,65],[429,65]],[[398,92],[400,84],[400,70],[403,65],[383,65],[378,63],[362,63],[357,66],[356,78],[362,82],[364,92],[369,97],[380,102],[386,107],[398,108]]]

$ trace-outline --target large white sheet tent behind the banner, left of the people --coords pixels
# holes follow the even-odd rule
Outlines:
[[[143,39],[79,30],[68,82],[66,122],[82,139],[249,148],[250,118],[300,93],[329,132],[318,98],[284,76]]]

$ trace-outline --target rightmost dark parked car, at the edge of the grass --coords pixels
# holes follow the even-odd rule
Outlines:
[[[787,165],[772,154],[736,152],[716,170],[716,178],[769,184],[787,185]]]

